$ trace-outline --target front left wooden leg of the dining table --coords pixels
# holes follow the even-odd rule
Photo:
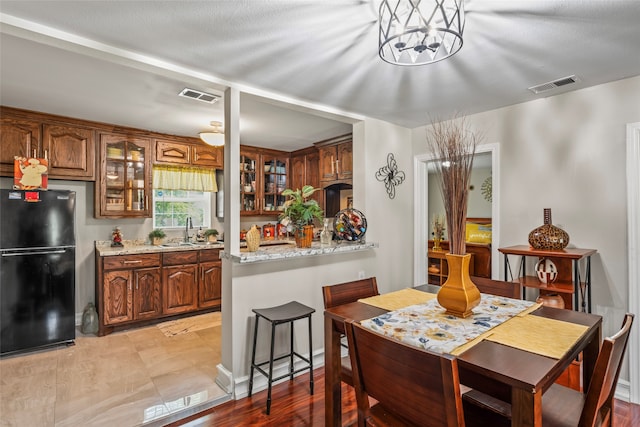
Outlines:
[[[340,333],[333,319],[324,316],[324,415],[325,426],[342,425],[342,384],[340,383]]]

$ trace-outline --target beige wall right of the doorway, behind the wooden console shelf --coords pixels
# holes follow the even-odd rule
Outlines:
[[[640,120],[640,77],[470,115],[485,142],[500,144],[500,246],[527,244],[544,208],[570,245],[592,257],[592,309],[604,335],[622,323],[628,291],[626,124]],[[414,154],[424,154],[424,128]],[[501,269],[502,271],[502,269]],[[628,373],[621,374],[628,379]]]

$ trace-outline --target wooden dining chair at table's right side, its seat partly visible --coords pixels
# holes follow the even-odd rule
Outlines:
[[[612,422],[613,396],[633,318],[633,314],[627,313],[620,331],[604,339],[585,394],[559,384],[553,384],[545,392],[542,397],[542,423],[545,427],[614,425]],[[463,400],[466,413],[473,414],[473,419],[484,421],[477,425],[511,424],[509,404],[477,390],[465,393]]]

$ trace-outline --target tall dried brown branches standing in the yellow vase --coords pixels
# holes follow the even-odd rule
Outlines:
[[[471,169],[479,137],[466,128],[464,118],[433,122],[427,145],[434,158],[436,175],[449,230],[449,252],[466,252],[465,228]]]

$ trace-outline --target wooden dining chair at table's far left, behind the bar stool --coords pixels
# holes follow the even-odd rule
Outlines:
[[[322,287],[324,308],[348,304],[350,302],[358,301],[360,298],[367,298],[376,295],[380,295],[380,293],[378,292],[378,282],[375,277]],[[340,379],[353,386],[351,360],[349,360],[349,355],[342,357],[340,362]]]

